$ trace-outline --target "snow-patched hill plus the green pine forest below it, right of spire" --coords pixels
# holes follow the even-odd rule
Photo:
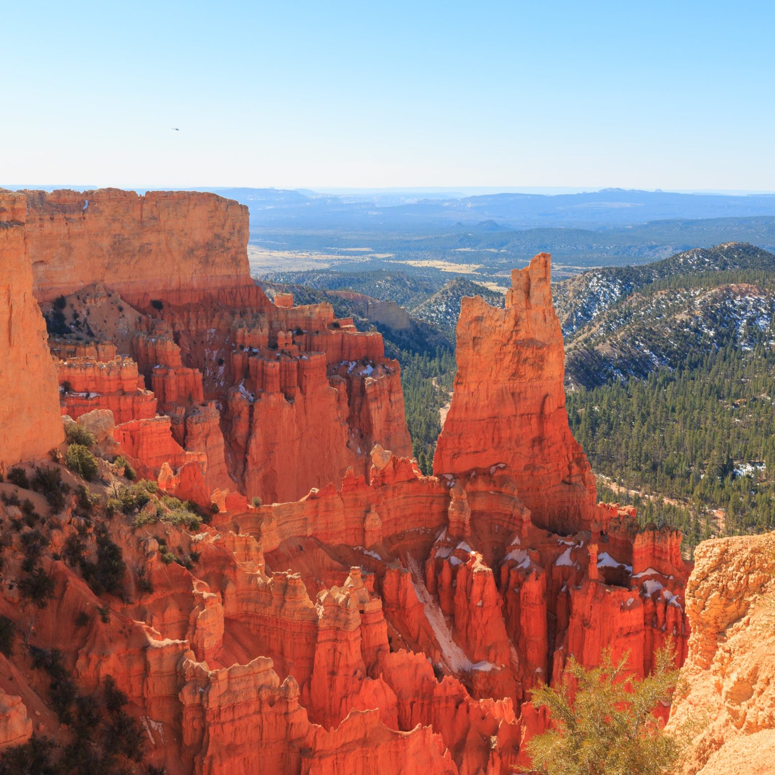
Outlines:
[[[775,526],[775,256],[724,244],[554,293],[571,427],[602,494],[689,549]]]

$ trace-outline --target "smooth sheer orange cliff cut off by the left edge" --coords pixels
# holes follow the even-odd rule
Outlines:
[[[25,219],[22,195],[0,195],[0,473],[45,456],[64,438]]]

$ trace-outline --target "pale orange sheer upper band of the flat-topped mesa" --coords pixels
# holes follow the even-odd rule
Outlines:
[[[95,282],[140,307],[152,299],[233,295],[252,284],[247,208],[230,199],[117,188],[13,196],[26,200],[27,250],[41,301]]]

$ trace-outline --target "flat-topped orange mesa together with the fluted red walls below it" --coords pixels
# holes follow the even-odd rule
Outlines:
[[[290,294],[271,304],[250,278],[242,205],[116,189],[0,197],[26,201],[36,297],[64,312],[63,413],[107,408],[119,426],[170,415],[174,442],[206,453],[211,491],[265,501],[301,498],[348,467],[365,474],[374,443],[410,453],[400,371],[381,335],[327,304],[294,307]],[[68,327],[103,351],[75,346]],[[120,363],[104,351],[111,339]],[[358,369],[340,374],[343,363]],[[149,434],[160,443],[155,426]],[[158,472],[157,456],[137,462]]]

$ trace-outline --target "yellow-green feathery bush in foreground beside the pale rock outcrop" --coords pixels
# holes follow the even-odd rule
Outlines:
[[[681,750],[679,737],[660,729],[653,708],[669,701],[677,680],[673,654],[662,649],[643,680],[625,680],[627,655],[618,664],[611,652],[590,670],[571,657],[567,671],[577,683],[574,701],[567,684],[544,684],[532,704],[545,705],[556,724],[528,743],[533,767],[545,775],[667,775]],[[631,691],[627,691],[628,687]]]

